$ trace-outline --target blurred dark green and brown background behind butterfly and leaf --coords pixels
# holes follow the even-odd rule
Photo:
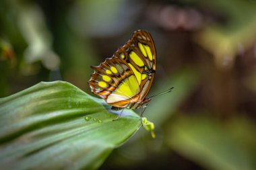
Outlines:
[[[0,97],[87,81],[135,30],[158,54],[139,130],[100,169],[256,169],[256,1],[0,1]]]

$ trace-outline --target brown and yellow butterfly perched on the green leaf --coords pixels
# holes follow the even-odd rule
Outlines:
[[[92,69],[88,84],[106,103],[114,108],[145,108],[156,73],[154,41],[148,32],[138,30],[111,58]]]

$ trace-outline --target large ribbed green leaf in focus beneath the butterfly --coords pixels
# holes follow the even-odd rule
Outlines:
[[[102,103],[63,81],[0,99],[1,168],[96,169],[141,126],[130,110],[113,121]]]

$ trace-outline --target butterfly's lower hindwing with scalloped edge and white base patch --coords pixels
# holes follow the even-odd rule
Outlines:
[[[106,103],[125,108],[139,93],[137,79],[122,58],[106,58],[100,66],[92,69],[94,73],[88,83],[92,92],[104,98]]]

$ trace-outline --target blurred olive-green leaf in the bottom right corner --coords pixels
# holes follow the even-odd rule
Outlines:
[[[210,116],[177,116],[166,130],[168,145],[203,167],[255,169],[256,126],[247,118],[221,122]]]

